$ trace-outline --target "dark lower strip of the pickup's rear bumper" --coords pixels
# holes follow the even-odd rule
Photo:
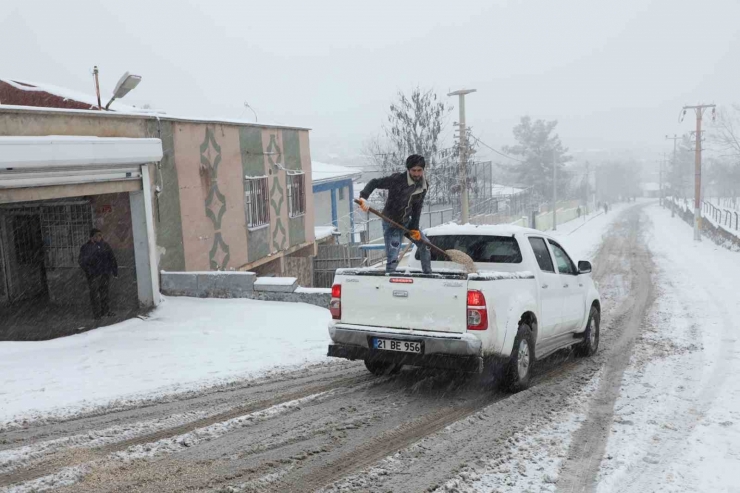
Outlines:
[[[458,370],[470,373],[483,371],[483,358],[480,356],[459,356],[453,354],[409,354],[395,351],[379,351],[362,346],[329,344],[327,356],[348,360],[382,361],[396,365],[422,366]]]

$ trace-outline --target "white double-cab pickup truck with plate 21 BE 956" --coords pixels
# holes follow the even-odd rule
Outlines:
[[[378,375],[403,365],[481,372],[494,364],[517,391],[536,359],[569,346],[596,352],[601,301],[589,262],[576,266],[533,229],[445,225],[425,234],[442,250],[470,255],[478,272],[434,251],[432,274],[421,272],[416,251],[394,274],[337,270],[329,356],[364,360]]]

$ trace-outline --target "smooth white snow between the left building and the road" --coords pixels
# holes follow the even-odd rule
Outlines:
[[[133,319],[41,342],[0,342],[0,427],[323,361],[328,310],[166,298]]]

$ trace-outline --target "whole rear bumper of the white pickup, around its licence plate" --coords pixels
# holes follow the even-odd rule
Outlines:
[[[329,346],[329,356],[370,359],[397,364],[445,368],[478,372],[482,368],[481,341],[472,334],[454,334],[431,331],[408,331],[386,327],[351,324],[329,326],[334,344]],[[383,351],[372,348],[374,337],[401,341],[421,342],[423,354]]]

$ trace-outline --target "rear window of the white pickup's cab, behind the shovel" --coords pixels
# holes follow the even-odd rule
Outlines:
[[[446,235],[429,238],[442,250],[460,250],[470,255],[473,262],[494,264],[519,264],[522,252],[519,243],[511,236]],[[416,252],[419,260],[419,251]],[[447,257],[432,250],[432,261],[444,262]]]

